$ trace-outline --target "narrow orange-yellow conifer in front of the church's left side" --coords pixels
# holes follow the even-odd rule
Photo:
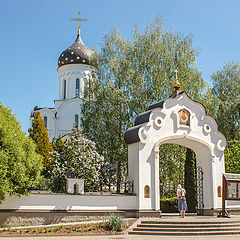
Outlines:
[[[52,145],[49,142],[48,132],[40,112],[34,113],[32,128],[29,129],[29,133],[36,143],[36,152],[43,156],[43,165],[46,167],[49,164]]]

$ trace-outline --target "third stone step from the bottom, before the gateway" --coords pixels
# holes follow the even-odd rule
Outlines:
[[[185,223],[176,223],[176,224],[138,224],[137,227],[164,227],[164,228],[210,228],[210,227],[240,227],[240,223],[218,223],[218,224],[185,224]]]

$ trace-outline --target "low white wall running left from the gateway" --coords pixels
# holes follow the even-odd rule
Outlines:
[[[135,210],[136,196],[31,194],[8,196],[0,209],[18,210]]]

